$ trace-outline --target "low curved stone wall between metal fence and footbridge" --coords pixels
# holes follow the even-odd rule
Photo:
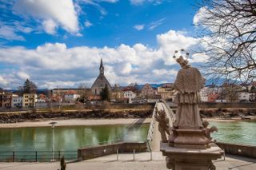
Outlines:
[[[89,160],[118,152],[146,152],[146,142],[104,144],[96,147],[78,149],[78,160]]]

